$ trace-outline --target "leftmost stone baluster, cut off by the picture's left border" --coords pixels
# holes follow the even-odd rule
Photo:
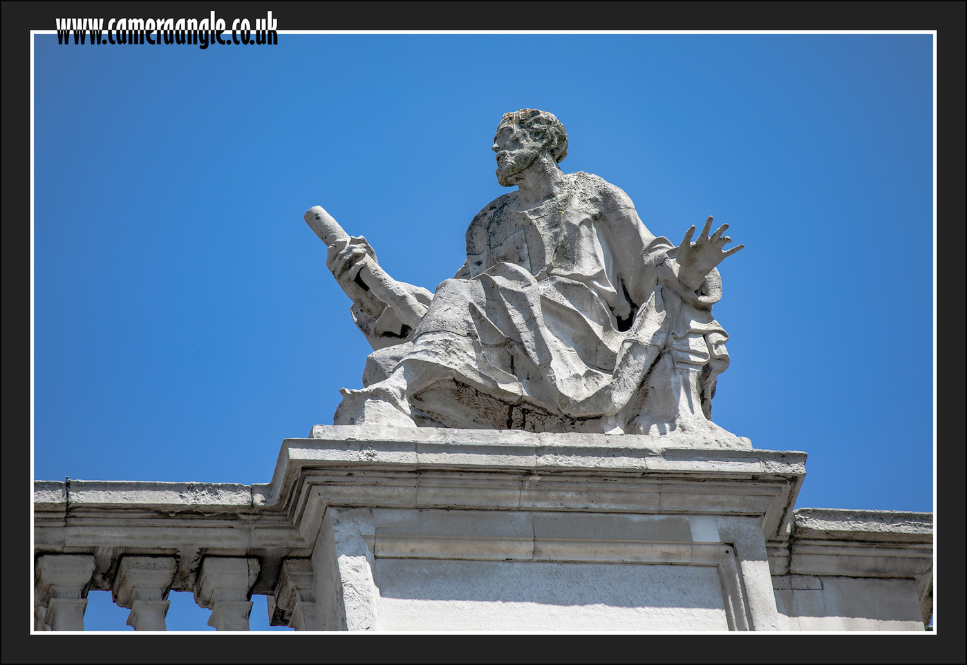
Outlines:
[[[87,590],[94,574],[89,554],[45,554],[37,560],[35,594],[51,630],[83,630]]]

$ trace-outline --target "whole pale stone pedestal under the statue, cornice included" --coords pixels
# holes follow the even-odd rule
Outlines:
[[[777,630],[766,537],[787,526],[806,455],[729,443],[316,426],[286,440],[273,480],[298,488],[316,534],[300,622]],[[277,622],[293,596],[277,592]]]

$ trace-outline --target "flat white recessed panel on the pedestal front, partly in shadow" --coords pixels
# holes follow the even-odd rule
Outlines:
[[[377,560],[388,630],[727,630],[713,566]]]

